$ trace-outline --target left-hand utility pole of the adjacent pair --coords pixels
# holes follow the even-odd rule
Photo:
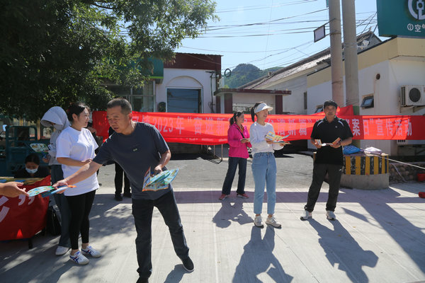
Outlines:
[[[329,0],[329,35],[331,39],[332,100],[342,107],[344,106],[344,81],[342,80],[341,10],[339,8],[339,0]]]

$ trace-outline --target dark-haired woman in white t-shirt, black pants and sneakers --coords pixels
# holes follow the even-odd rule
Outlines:
[[[98,145],[89,129],[85,129],[89,116],[89,108],[83,103],[74,103],[67,110],[71,127],[64,129],[56,141],[56,158],[62,164],[64,178],[90,163],[95,156],[94,150]],[[101,253],[89,245],[89,213],[96,189],[99,187],[96,173],[74,185],[76,187],[64,192],[71,210],[69,238],[72,250],[69,258],[79,265],[86,265],[89,260],[84,255],[94,258],[101,256]],[[78,244],[79,233],[82,241],[81,252]]]

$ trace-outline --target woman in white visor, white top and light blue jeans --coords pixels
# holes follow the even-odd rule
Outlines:
[[[259,102],[251,108],[251,118],[254,122],[249,129],[249,140],[252,145],[252,175],[254,177],[254,225],[263,227],[261,210],[263,209],[264,187],[267,191],[266,224],[280,228],[280,223],[274,214],[276,205],[276,160],[273,152],[281,149],[283,144],[276,144],[266,139],[268,132],[273,132],[273,125],[266,122],[268,112],[273,110],[266,103]],[[256,117],[256,121],[255,121]]]

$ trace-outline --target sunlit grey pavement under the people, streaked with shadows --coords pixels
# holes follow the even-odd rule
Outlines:
[[[312,158],[277,158],[276,216],[282,229],[253,226],[253,182],[248,166],[242,200],[218,200],[227,161],[174,156],[174,180],[190,254],[196,269],[183,270],[162,216],[154,210],[150,282],[425,282],[424,183],[393,184],[385,190],[341,189],[337,221],[325,218],[327,184],[313,219],[300,221],[311,180]],[[102,187],[91,211],[91,243],[102,258],[77,266],[55,256],[57,236],[0,243],[0,282],[135,282],[135,228],[131,201],[113,200],[113,166],[101,168]],[[263,211],[266,209],[264,204]]]

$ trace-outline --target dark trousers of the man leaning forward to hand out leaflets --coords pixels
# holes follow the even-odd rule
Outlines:
[[[176,255],[184,260],[189,257],[189,248],[183,233],[174,193],[171,190],[157,200],[132,199],[132,214],[137,232],[136,253],[140,277],[148,278],[152,274],[152,212],[157,207],[169,227],[171,241]]]

